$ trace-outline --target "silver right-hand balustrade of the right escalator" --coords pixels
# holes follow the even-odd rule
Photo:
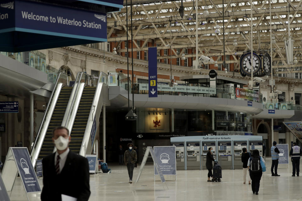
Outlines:
[[[97,130],[97,126],[98,126],[97,121],[99,119],[100,112],[102,110],[102,105],[103,105],[103,99],[100,100],[100,98],[102,98],[101,97],[101,91],[102,91],[103,84],[104,83],[106,84],[107,81],[108,81],[107,78],[108,78],[108,75],[106,73],[100,72],[99,78],[98,78],[98,84],[97,84],[97,87],[95,89],[94,97],[93,97],[93,100],[92,100],[92,105],[91,105],[91,109],[90,109],[90,112],[89,112],[87,125],[86,125],[86,129],[85,129],[85,132],[84,132],[84,136],[83,136],[83,140],[82,140],[79,155],[85,156],[87,147],[92,147],[92,144],[94,143],[94,141],[93,141],[93,142],[91,142],[91,145],[90,145],[89,144],[89,138],[91,137],[91,130],[93,129],[92,125],[93,125],[94,119],[96,119],[95,132]],[[97,113],[97,111],[98,111],[98,113]],[[98,114],[97,115],[98,119],[96,118],[96,114]]]

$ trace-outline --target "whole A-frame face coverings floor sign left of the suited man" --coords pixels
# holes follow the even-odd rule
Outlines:
[[[41,188],[26,147],[10,147],[8,149],[2,171],[3,182],[7,191],[12,191],[18,172],[29,200],[27,193],[40,192]]]

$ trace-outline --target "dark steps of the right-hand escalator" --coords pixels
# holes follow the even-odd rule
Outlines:
[[[88,117],[91,111],[91,106],[95,95],[95,90],[96,87],[84,88],[80,104],[76,112],[76,117],[70,133],[71,141],[69,143],[69,149],[76,154],[79,154],[81,149],[84,133],[88,122]]]

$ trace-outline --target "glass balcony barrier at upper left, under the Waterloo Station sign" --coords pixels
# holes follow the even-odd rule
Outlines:
[[[32,68],[36,68],[39,71],[46,73],[48,81],[52,83],[57,82],[58,69],[46,63],[46,55],[37,50],[30,52],[0,52],[0,54],[10,57],[18,62],[24,63]]]

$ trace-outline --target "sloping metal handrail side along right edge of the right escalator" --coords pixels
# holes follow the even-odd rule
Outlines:
[[[104,77],[104,82],[101,82],[102,77]],[[107,79],[105,80],[105,78],[107,78]],[[81,144],[79,155],[85,156],[85,154],[86,154],[86,153],[83,153],[85,151],[85,148],[84,148],[85,145],[88,144],[88,142],[85,142],[85,139],[87,138],[87,135],[89,135],[89,137],[91,137],[90,136],[91,129],[92,129],[91,127],[92,127],[93,120],[95,118],[95,114],[96,114],[96,110],[97,110],[97,108],[93,108],[93,106],[95,105],[97,107],[96,102],[97,102],[97,99],[99,100],[99,98],[100,98],[100,96],[99,96],[99,94],[97,94],[97,92],[98,91],[101,92],[103,83],[107,84],[107,81],[108,81],[108,75],[106,73],[100,72],[99,77],[98,77],[98,84],[97,84],[97,87],[96,87],[95,92],[94,92],[94,97],[93,97],[93,100],[92,100],[92,104],[91,104],[91,108],[90,108],[90,112],[89,112],[89,116],[88,116],[88,120],[87,120],[87,125],[86,125],[86,128],[85,128],[85,132],[84,132],[83,141],[82,141],[82,144]],[[99,88],[101,88],[101,89],[99,90]],[[92,110],[92,109],[94,109],[94,110]],[[90,128],[90,129],[88,129],[88,128]],[[88,139],[88,141],[89,141],[89,139]],[[94,142],[92,142],[92,144],[93,143]]]

